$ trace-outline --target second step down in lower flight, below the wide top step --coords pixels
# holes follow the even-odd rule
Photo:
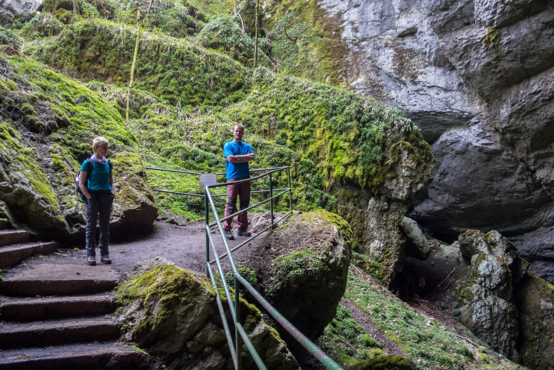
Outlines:
[[[115,311],[114,295],[19,298],[2,301],[0,320],[38,321],[55,318],[105,315]]]

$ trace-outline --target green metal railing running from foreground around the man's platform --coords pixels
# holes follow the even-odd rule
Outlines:
[[[161,169],[161,168],[151,168],[146,167],[146,169],[149,170],[160,170],[160,171],[171,171],[171,172],[178,172],[178,173],[184,173],[184,174],[191,174],[191,175],[201,175],[199,173],[193,173],[188,171],[177,171],[177,170],[167,170],[167,169]],[[287,177],[288,177],[288,184],[289,187],[280,188],[280,189],[273,189],[273,179],[271,174],[276,173],[278,171],[287,171]],[[265,300],[263,296],[243,277],[240,275],[240,273],[237,270],[237,266],[235,265],[235,262],[233,260],[233,254],[232,252],[239,249],[240,247],[244,246],[248,242],[252,241],[254,238],[260,236],[264,232],[274,229],[275,225],[277,225],[281,220],[283,220],[285,217],[291,215],[293,213],[293,196],[290,186],[290,167],[276,167],[276,168],[264,168],[264,169],[255,169],[250,170],[250,172],[261,172],[261,171],[267,171],[264,174],[255,176],[253,178],[245,179],[245,180],[239,180],[239,181],[233,181],[232,183],[222,183],[222,184],[214,184],[214,185],[208,185],[204,188],[204,194],[189,194],[186,192],[177,192],[177,191],[167,191],[167,190],[159,190],[159,189],[152,189],[154,191],[161,191],[161,192],[169,192],[171,194],[182,194],[182,195],[191,195],[191,196],[202,196],[204,197],[204,212],[205,212],[205,229],[206,229],[206,273],[207,276],[209,276],[212,285],[214,287],[214,290],[216,292],[216,302],[217,307],[219,310],[219,315],[222,318],[223,323],[223,330],[225,332],[225,337],[227,337],[227,342],[229,344],[229,350],[231,357],[233,358],[233,364],[235,367],[235,370],[240,370],[241,368],[241,348],[242,348],[242,341],[244,341],[244,344],[247,346],[248,351],[252,355],[252,358],[254,359],[254,362],[257,364],[258,368],[260,370],[267,370],[265,367],[265,364],[261,360],[258,352],[255,350],[252,342],[250,342],[250,339],[248,338],[247,333],[244,331],[244,328],[242,324],[240,323],[240,294],[239,294],[239,283],[242,284],[254,297],[255,300],[260,303],[262,307],[271,315],[276,322],[278,322],[283,328],[291,334],[293,338],[296,339],[297,342],[299,342],[302,347],[307,349],[308,352],[313,354],[327,369],[330,370],[344,370],[338,363],[336,363],[331,357],[327,356],[325,352],[321,351],[319,347],[317,347],[310,339],[308,339],[304,334],[302,334],[294,325],[286,320],[283,315],[279,313],[275,309],[275,307],[271,306],[270,303]],[[218,173],[217,175],[224,175],[225,173]],[[216,205],[214,204],[213,197],[216,196],[224,196],[227,194],[211,194],[210,189],[213,189],[215,187],[221,187],[221,186],[229,186],[229,185],[237,185],[241,183],[246,183],[248,181],[257,180],[260,178],[263,178],[265,176],[269,176],[269,189],[268,190],[256,190],[251,191],[250,193],[261,193],[261,192],[269,192],[269,198],[265,199],[263,201],[258,202],[257,204],[253,206],[249,206],[245,209],[239,210],[238,212],[235,212],[232,215],[223,217],[223,219],[219,219],[219,215],[217,213]],[[274,191],[279,191],[278,194],[274,195]],[[290,205],[290,211],[287,212],[285,215],[281,216],[278,220],[274,220],[273,216],[273,201],[277,197],[285,194],[286,192],[289,192],[289,205]],[[270,225],[268,227],[265,227],[264,230],[261,230],[258,232],[258,234],[253,235],[249,237],[247,240],[243,241],[237,246],[234,246],[233,249],[229,247],[229,244],[227,242],[227,239],[225,238],[223,234],[223,226],[222,221],[232,219],[235,216],[238,216],[240,214],[243,214],[244,212],[248,212],[249,210],[265,204],[266,202],[269,202],[269,208],[271,212],[270,216]],[[209,209],[212,209],[213,216],[215,218],[215,221],[210,223],[209,222]],[[219,230],[219,234],[222,237],[223,245],[225,247],[225,253],[222,255],[218,255],[216,250],[216,244],[213,241],[212,233],[211,233],[211,227],[216,226]],[[210,260],[210,249],[213,251],[214,259]],[[230,293],[229,287],[227,286],[227,281],[225,280],[225,274],[223,273],[223,268],[221,265],[221,259],[224,257],[228,257],[229,259],[229,265],[231,266],[231,269],[233,271],[233,280],[234,280],[234,296]],[[233,343],[233,338],[231,336],[229,325],[227,323],[227,318],[225,317],[225,311],[223,308],[223,303],[221,300],[221,297],[219,295],[218,285],[216,281],[216,274],[213,271],[212,265],[213,263],[216,263],[217,272],[219,273],[219,277],[221,280],[221,285],[223,287],[223,290],[225,292],[225,298],[227,298],[229,310],[231,312],[231,315],[233,317],[233,325],[235,328],[235,341]],[[233,305],[234,303],[234,305]],[[242,339],[242,340],[241,340]]]

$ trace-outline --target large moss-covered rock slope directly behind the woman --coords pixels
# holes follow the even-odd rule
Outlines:
[[[84,204],[74,177],[94,136],[105,136],[116,187],[112,236],[150,230],[156,201],[136,139],[117,109],[40,63],[0,54],[0,64],[1,216],[39,239],[83,240]]]

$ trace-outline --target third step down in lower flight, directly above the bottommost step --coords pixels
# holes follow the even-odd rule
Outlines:
[[[120,335],[119,325],[104,317],[3,323],[0,326],[0,348],[107,341]]]

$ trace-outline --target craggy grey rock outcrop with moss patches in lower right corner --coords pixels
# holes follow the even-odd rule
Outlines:
[[[454,291],[460,322],[498,352],[534,370],[554,367],[554,286],[529,270],[497,231],[458,237],[468,273]]]

